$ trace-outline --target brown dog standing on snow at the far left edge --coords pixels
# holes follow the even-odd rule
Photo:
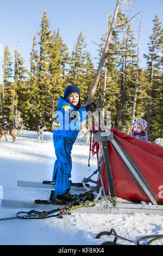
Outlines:
[[[0,139],[1,139],[1,138],[3,137],[3,135],[4,135],[5,140],[7,141],[8,138],[7,138],[7,136],[6,136],[6,133],[8,133],[8,131],[9,131],[10,136],[12,137],[12,142],[15,142],[15,140],[16,140],[16,137],[15,137],[15,129],[20,130],[21,127],[18,127],[18,128],[17,128],[16,126],[14,126],[14,125],[11,124],[11,123],[6,123],[6,124],[0,125],[0,135],[1,135]]]

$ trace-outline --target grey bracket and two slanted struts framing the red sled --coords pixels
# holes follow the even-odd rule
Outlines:
[[[110,167],[109,151],[108,151],[107,141],[110,141],[111,144],[114,146],[118,155],[121,157],[123,162],[128,167],[131,175],[138,182],[138,184],[141,186],[143,191],[147,194],[147,196],[151,200],[152,204],[153,205],[158,205],[156,203],[156,196],[154,195],[154,192],[152,191],[152,188],[148,185],[147,181],[142,176],[139,169],[136,168],[136,167],[133,167],[133,165],[131,164],[131,162],[129,161],[129,159],[126,156],[127,153],[124,154],[124,151],[122,151],[120,146],[115,141],[113,132],[110,131],[109,135],[108,135],[108,132],[106,134],[107,134],[107,136],[104,136],[104,132],[95,133],[94,134],[94,139],[95,139],[95,142],[102,142],[103,156],[104,156],[106,174],[107,174],[107,178],[108,178],[108,186],[109,186],[110,196],[111,197],[114,196],[114,186],[113,186],[113,181],[112,181],[112,174],[111,174],[111,167]],[[113,194],[111,194],[111,192]]]

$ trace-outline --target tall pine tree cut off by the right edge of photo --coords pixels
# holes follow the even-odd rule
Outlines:
[[[144,54],[147,59],[149,69],[149,101],[148,101],[148,137],[149,141],[153,141],[162,133],[162,80],[161,80],[161,55],[160,47],[162,47],[163,29],[158,16],[155,15],[153,20],[153,33],[149,36],[148,54]]]

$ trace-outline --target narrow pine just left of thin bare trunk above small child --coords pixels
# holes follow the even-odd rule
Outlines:
[[[135,90],[136,75],[136,53],[134,43],[134,35],[128,24],[127,32],[124,34],[122,46],[120,50],[120,100],[118,106],[118,129],[126,132],[130,131],[131,113]]]

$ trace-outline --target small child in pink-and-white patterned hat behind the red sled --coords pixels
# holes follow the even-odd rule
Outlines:
[[[148,142],[148,137],[146,134],[147,125],[148,124],[146,120],[141,118],[136,119],[133,129],[131,131],[131,136]]]

